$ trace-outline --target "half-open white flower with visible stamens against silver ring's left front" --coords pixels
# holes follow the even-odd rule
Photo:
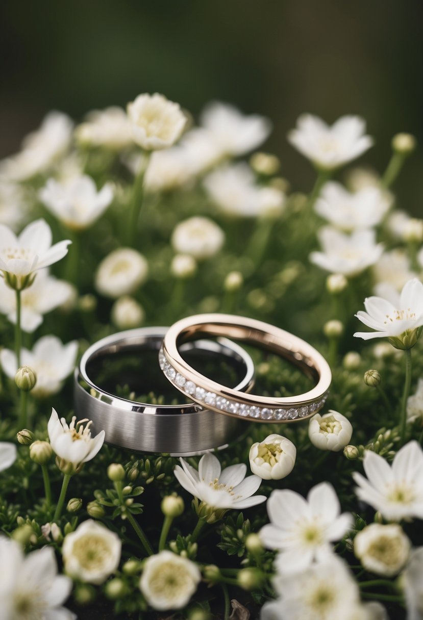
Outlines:
[[[85,427],[84,422],[87,420],[76,422],[74,415],[68,426],[65,418],[59,420],[56,410],[51,409],[47,425],[51,448],[60,459],[72,464],[75,470],[81,469],[82,463],[91,461],[104,443],[104,430],[92,437],[92,422],[87,422]]]

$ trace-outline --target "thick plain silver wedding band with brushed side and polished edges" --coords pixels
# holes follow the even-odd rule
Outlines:
[[[223,448],[241,435],[243,423],[225,418],[194,402],[177,405],[151,405],[115,394],[117,384],[129,384],[130,389],[147,394],[168,392],[169,383],[163,378],[157,363],[159,348],[167,327],[146,327],[108,336],[82,355],[74,376],[74,409],[81,418],[92,420],[92,432],[105,430],[105,440],[131,450],[167,453],[172,456],[198,454],[213,448]],[[181,347],[190,360],[218,366],[225,362],[239,381],[237,390],[250,389],[254,379],[251,357],[233,342],[198,340]],[[132,366],[120,369],[115,366]],[[215,372],[215,370],[213,370]],[[171,387],[172,397],[179,396]],[[185,396],[187,396],[185,394]],[[180,399],[182,402],[184,399]],[[204,408],[205,407],[205,408]]]

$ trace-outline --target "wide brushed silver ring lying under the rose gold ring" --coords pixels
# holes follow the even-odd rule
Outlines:
[[[119,353],[139,353],[138,376],[143,373],[143,352],[159,352],[167,327],[143,327],[107,336],[89,347],[82,355],[74,374],[74,409],[81,418],[92,420],[92,432],[105,431],[105,441],[122,448],[141,452],[166,453],[172,456],[199,454],[228,445],[246,429],[243,422],[216,414],[194,402],[178,405],[150,405],[131,401],[107,391],[109,386],[97,385],[89,374],[105,359],[118,359]],[[198,355],[223,356],[244,375],[235,389],[247,391],[254,382],[251,357],[235,343],[225,338],[217,342],[197,340],[186,343],[182,352]],[[157,379],[163,374],[157,365]],[[151,366],[153,370],[154,366]],[[150,370],[150,368],[148,369]],[[165,380],[166,381],[166,380]],[[99,383],[101,383],[99,381]],[[115,382],[117,383],[117,381]],[[167,383],[167,382],[166,382]],[[149,392],[152,387],[145,389]],[[177,396],[178,392],[175,391]]]

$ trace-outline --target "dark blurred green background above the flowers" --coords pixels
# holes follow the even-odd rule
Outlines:
[[[19,148],[51,108],[92,108],[163,92],[197,114],[210,99],[272,119],[265,145],[294,188],[313,182],[285,139],[301,112],[367,119],[383,169],[390,139],[423,143],[418,0],[42,0],[0,6],[0,156]],[[422,215],[421,146],[396,185]]]

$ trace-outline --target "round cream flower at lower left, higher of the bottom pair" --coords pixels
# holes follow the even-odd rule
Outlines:
[[[95,584],[116,571],[121,551],[118,535],[91,519],[65,536],[61,550],[68,575]]]

